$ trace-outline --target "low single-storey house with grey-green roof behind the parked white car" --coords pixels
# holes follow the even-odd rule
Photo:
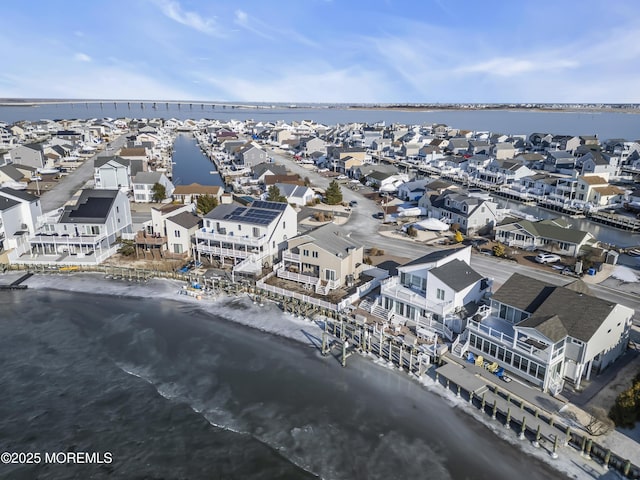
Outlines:
[[[572,228],[559,218],[531,222],[507,217],[495,227],[495,239],[509,247],[543,250],[577,257],[585,247],[597,244],[589,232]]]

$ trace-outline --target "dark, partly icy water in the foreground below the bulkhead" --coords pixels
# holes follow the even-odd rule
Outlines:
[[[415,382],[171,301],[0,292],[1,478],[562,478]]]

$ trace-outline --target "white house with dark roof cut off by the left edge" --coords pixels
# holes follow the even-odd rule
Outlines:
[[[12,250],[17,257],[28,250],[29,236],[42,215],[40,199],[12,188],[0,188],[0,252]]]

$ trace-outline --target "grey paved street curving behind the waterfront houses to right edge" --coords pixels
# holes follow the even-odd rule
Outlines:
[[[274,150],[271,153],[276,163],[286,165],[289,170],[302,177],[309,177],[314,186],[320,188],[327,188],[327,186],[329,186],[332,180],[331,178],[314,173],[303,165],[287,158],[278,150]],[[345,201],[358,201],[358,206],[352,209],[351,218],[343,227],[350,231],[351,238],[361,245],[376,246],[393,255],[407,258],[417,258],[420,255],[436,250],[435,247],[429,247],[406,239],[381,235],[378,229],[382,221],[374,218],[375,214],[381,212],[380,206],[372,200],[365,198],[360,193],[348,188],[342,188],[342,195]],[[570,281],[567,277],[553,271],[528,267],[509,260],[502,260],[482,254],[474,253],[471,264],[479,274],[492,278],[497,284],[504,283],[516,272],[538,278],[554,285],[566,285]],[[592,284],[589,285],[589,287],[593,293],[600,298],[625,305],[640,312],[640,293],[638,292],[624,291],[615,288],[615,286],[602,284]],[[640,322],[640,318],[637,319],[636,322]]]

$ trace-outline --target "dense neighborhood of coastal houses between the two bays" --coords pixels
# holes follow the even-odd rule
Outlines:
[[[577,283],[627,251],[572,220],[640,230],[637,141],[312,121],[3,128],[7,264],[147,262],[245,279],[352,312],[404,342],[431,345],[433,355],[446,347],[461,359],[483,356],[554,395],[606,369],[628,342],[633,310]],[[202,183],[174,184],[177,135],[189,136],[210,162]],[[82,188],[47,210],[50,194],[84,165]],[[208,184],[206,174],[223,186]],[[556,216],[525,214],[505,200]],[[367,229],[395,236],[399,246],[418,242],[427,253],[378,260],[377,237],[364,238]],[[536,253],[559,261],[536,263]],[[518,273],[496,285],[474,268],[481,254],[573,283]],[[585,309],[588,325],[577,320]]]

